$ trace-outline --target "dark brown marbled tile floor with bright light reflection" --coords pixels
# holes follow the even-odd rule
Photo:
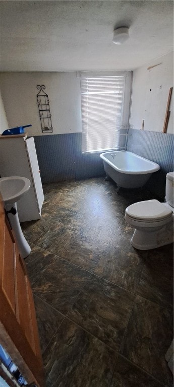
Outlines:
[[[103,178],[45,184],[22,223],[48,387],[172,385],[173,246],[135,250],[124,220],[144,189]]]

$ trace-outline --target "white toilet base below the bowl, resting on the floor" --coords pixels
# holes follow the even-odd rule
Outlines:
[[[157,231],[142,231],[135,229],[131,244],[139,250],[150,250],[173,242],[173,222]]]

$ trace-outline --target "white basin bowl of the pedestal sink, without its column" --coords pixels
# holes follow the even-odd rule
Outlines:
[[[0,191],[5,204],[16,203],[30,188],[26,177],[10,176],[0,178]]]

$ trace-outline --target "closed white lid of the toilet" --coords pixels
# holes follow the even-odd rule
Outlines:
[[[172,211],[154,199],[134,203],[127,207],[126,213],[134,219],[155,221],[168,218],[172,214]]]

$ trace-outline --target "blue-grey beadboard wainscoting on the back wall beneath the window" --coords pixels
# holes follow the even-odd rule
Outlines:
[[[105,176],[99,154],[82,154],[82,134],[34,137],[42,183]]]

